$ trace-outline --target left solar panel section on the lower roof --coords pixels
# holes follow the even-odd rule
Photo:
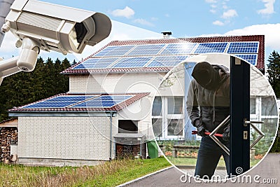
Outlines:
[[[98,95],[76,95],[76,96],[57,96],[51,99],[46,99],[41,102],[34,104],[29,104],[27,106],[21,107],[21,109],[39,109],[39,108],[64,108],[71,104],[76,104],[78,102],[83,102],[86,99],[91,99],[97,97]]]

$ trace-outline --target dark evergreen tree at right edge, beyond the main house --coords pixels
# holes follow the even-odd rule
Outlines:
[[[269,55],[267,65],[268,81],[277,98],[280,97],[280,55],[275,50]]]

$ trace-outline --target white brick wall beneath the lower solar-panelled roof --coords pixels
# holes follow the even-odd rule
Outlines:
[[[114,123],[118,123],[116,118]],[[116,127],[113,125],[113,135]],[[19,158],[109,160],[107,117],[20,117],[18,132]],[[113,146],[112,154],[114,157]]]

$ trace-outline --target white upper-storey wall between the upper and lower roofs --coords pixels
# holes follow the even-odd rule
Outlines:
[[[69,92],[155,92],[163,76],[156,72],[70,76]]]

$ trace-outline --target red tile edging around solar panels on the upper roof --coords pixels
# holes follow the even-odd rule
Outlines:
[[[107,46],[124,46],[124,45],[141,45],[141,44],[158,44],[158,43],[209,43],[209,42],[241,42],[241,41],[259,41],[258,49],[258,69],[264,72],[265,69],[265,36],[264,35],[251,35],[251,36],[212,36],[212,37],[192,37],[192,38],[179,38],[179,39],[147,39],[147,40],[130,40],[130,41],[111,41],[106,46],[98,50],[96,53],[90,55],[78,64],[93,57],[99,51]],[[90,73],[120,73],[120,72],[138,72],[138,71],[164,71],[168,72],[172,67],[140,67],[140,68],[110,68],[110,69],[72,69],[78,64],[73,65],[69,69],[62,71],[62,74],[90,74]]]

